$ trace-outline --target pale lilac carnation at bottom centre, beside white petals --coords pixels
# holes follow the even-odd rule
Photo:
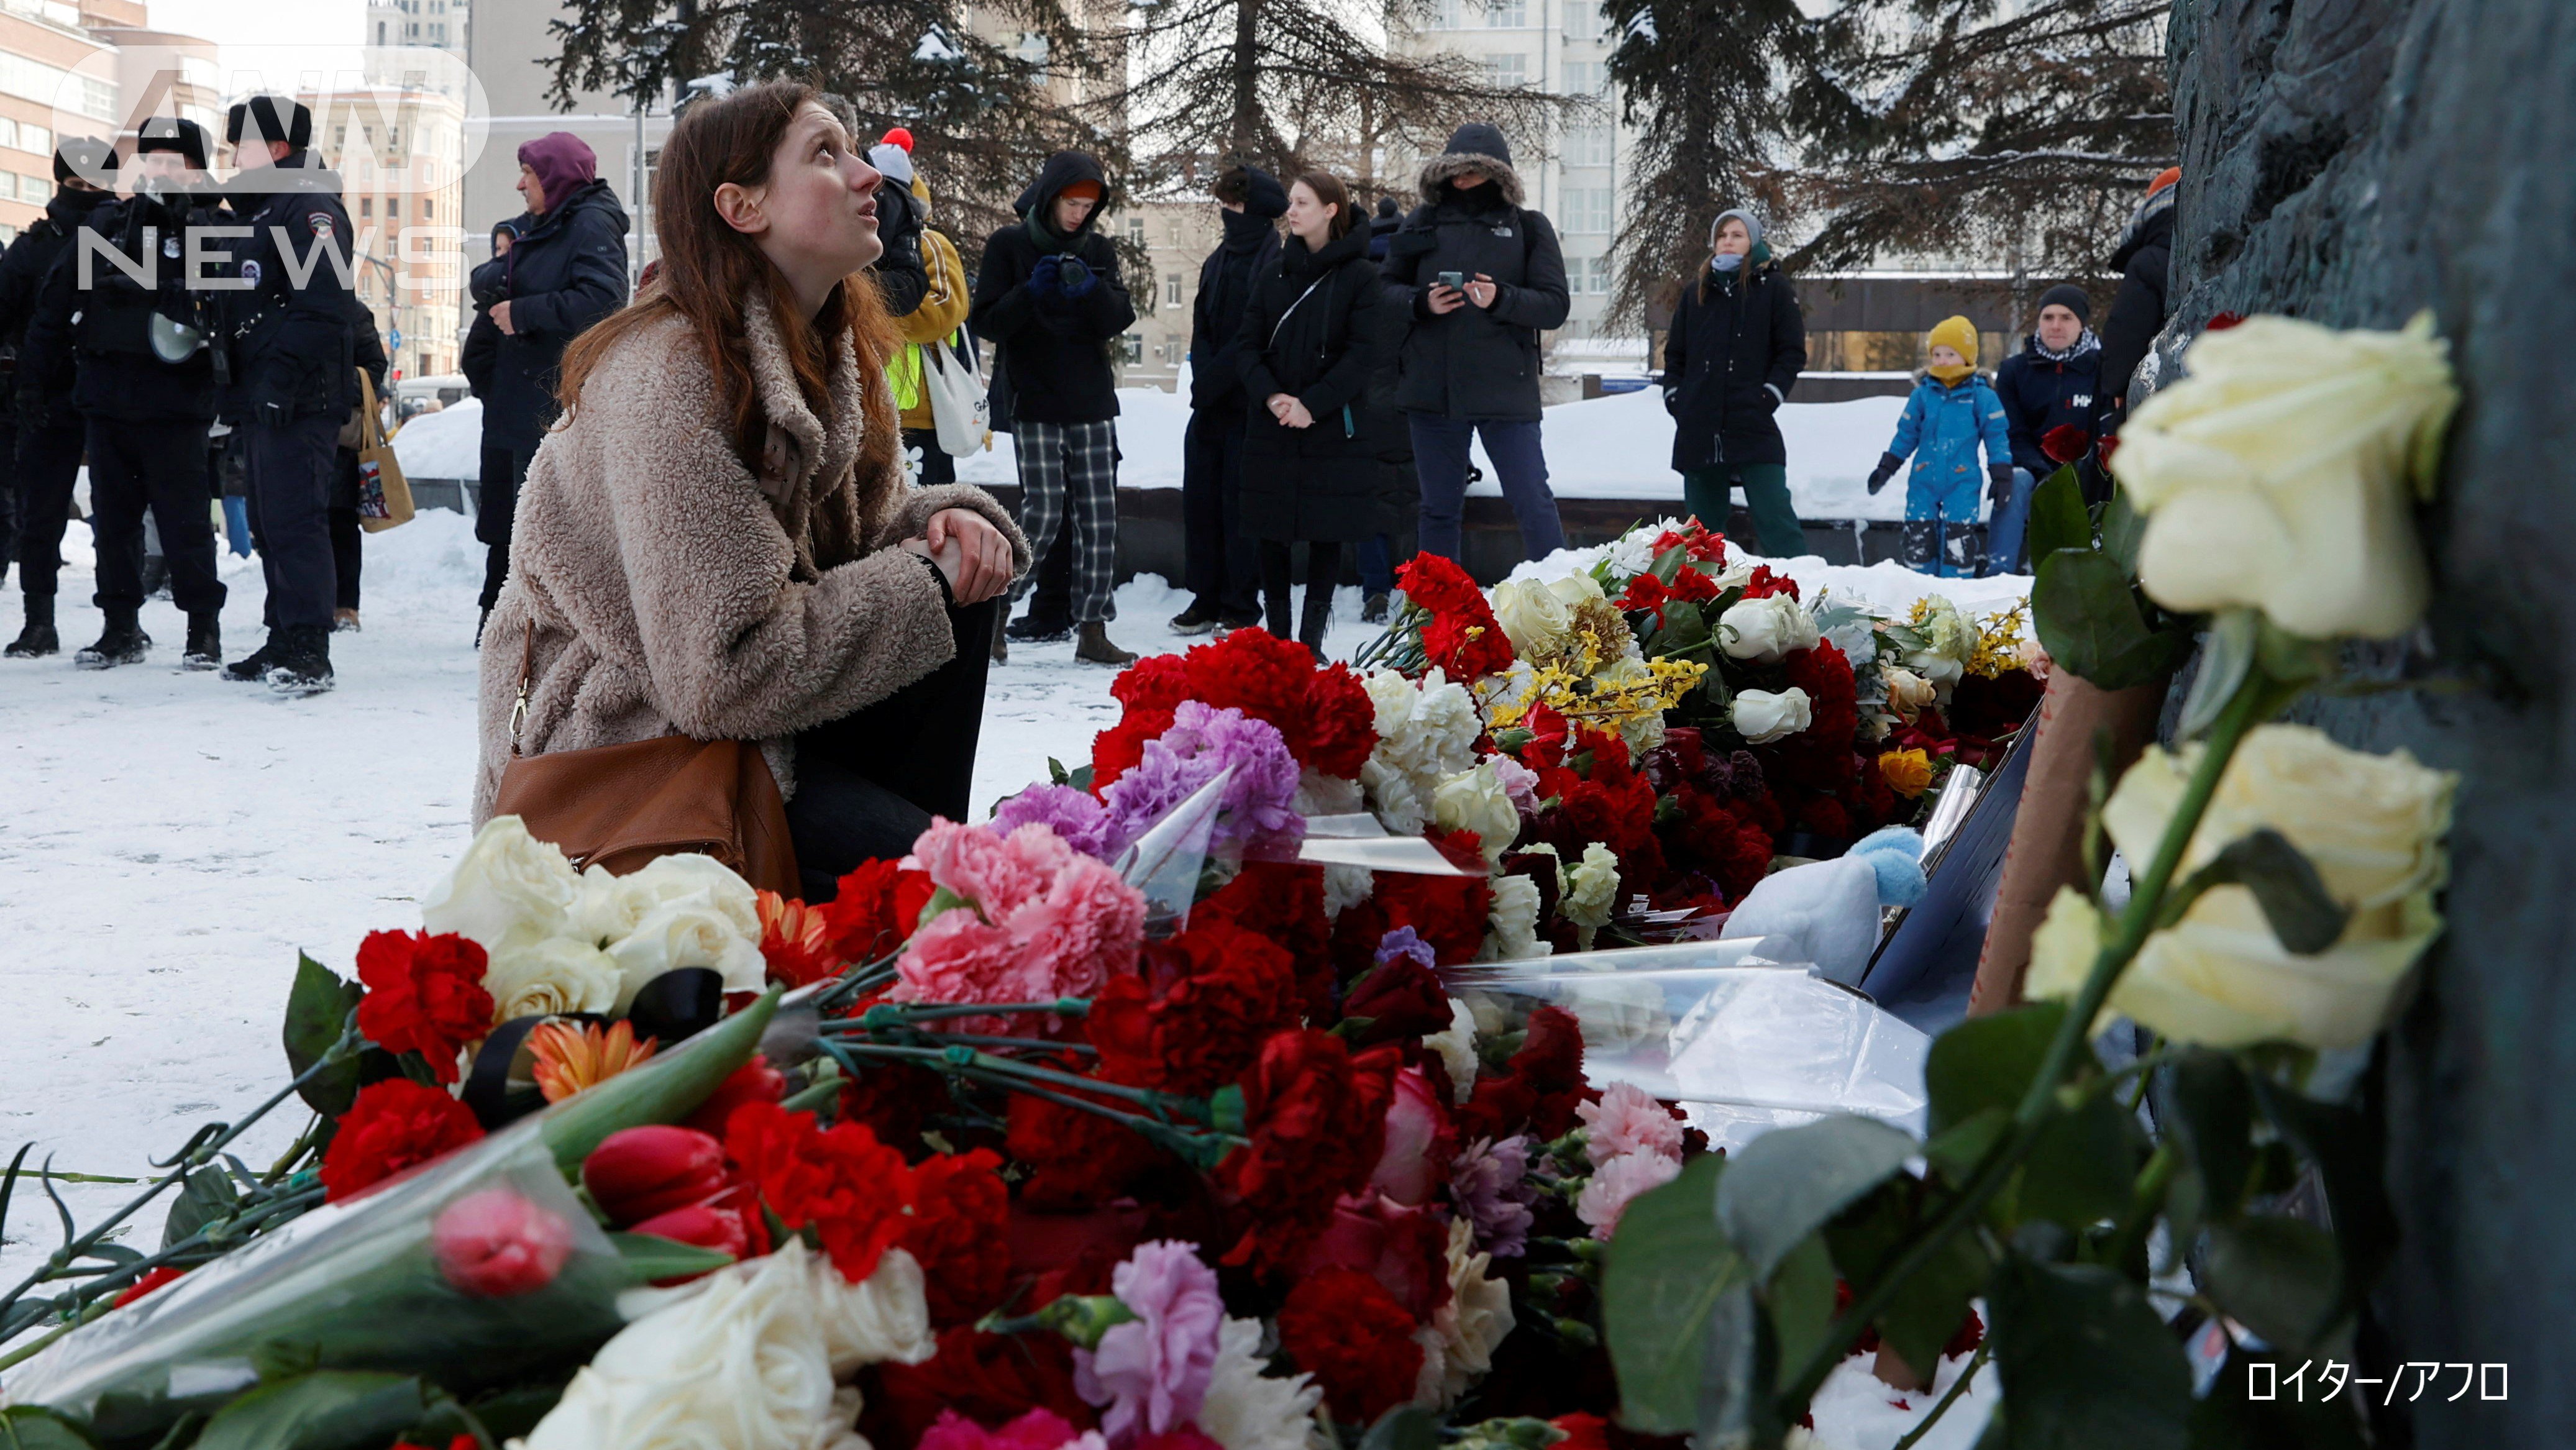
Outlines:
[[[1190,1424],[1216,1378],[1216,1329],[1226,1321],[1216,1270],[1190,1244],[1139,1244],[1110,1272],[1110,1293],[1136,1319],[1113,1324],[1097,1350],[1074,1350],[1074,1388],[1108,1406],[1100,1429],[1115,1445]]]

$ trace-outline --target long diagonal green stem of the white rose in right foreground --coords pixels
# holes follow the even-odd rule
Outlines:
[[[2156,842],[2156,855],[2146,873],[2138,876],[2138,886],[2120,912],[2120,925],[2102,943],[2094,956],[2092,976],[2084,979],[2084,989],[2076,994],[2074,1004],[2066,1007],[2066,1020],[2058,1022],[2058,1035],[2048,1043],[2048,1056],[2040,1059],[2040,1071],[2032,1074],[2030,1089],[2022,1095],[2022,1105],[2012,1113],[2012,1128],[1986,1149],[1986,1159],[1968,1174],[1968,1185],[1960,1187],[1958,1198],[1942,1208],[1942,1216],[1932,1229],[1917,1239],[1896,1267],[1860,1295],[1852,1308],[1839,1313],[1834,1324],[1824,1332],[1824,1342],[1808,1352],[1806,1362],[1788,1380],[1783,1401],[1790,1406],[1803,1406],[1824,1386],[1824,1378],[1834,1373],[1834,1365],[1850,1352],[1860,1339],[1860,1332],[1875,1321],[1896,1301],[1896,1293],[1909,1277],[1922,1272],[1953,1236],[1965,1231],[1984,1216],[1986,1203],[2002,1192],[2012,1169],[2030,1156],[2038,1146],[2040,1128],[2053,1113],[2058,1113],[2058,1084],[2066,1079],[2066,1069],[2074,1064],[2076,1048],[2092,1038],[2092,1020],[2102,1012],[2110,999],[2110,989],[2120,981],[2120,971],[2138,956],[2154,930],[2156,912],[2164,904],[2166,889],[2174,883],[2174,871],[2182,865],[2182,852],[2200,829],[2200,816],[2210,809],[2210,796],[2218,793],[2218,778],[2226,773],[2228,760],[2236,755],[2236,744],[2254,729],[2262,716],[2269,713],[2267,706],[2277,706],[2280,693],[2264,677],[2262,667],[2251,670],[2236,695],[2221,711],[2218,724],[2210,729],[2210,742],[2200,755],[2200,765],[2192,767],[2190,783],[2182,788],[2182,798],[2174,804],[2174,816],[2164,824],[2164,840]]]

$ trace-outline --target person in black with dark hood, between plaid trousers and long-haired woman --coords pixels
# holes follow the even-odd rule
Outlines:
[[[1255,165],[1226,167],[1208,188],[1226,240],[1198,265],[1190,306],[1190,430],[1182,435],[1180,518],[1190,608],[1172,634],[1260,623],[1260,551],[1242,531],[1244,379],[1236,332],[1252,278],[1278,260],[1288,188]]]

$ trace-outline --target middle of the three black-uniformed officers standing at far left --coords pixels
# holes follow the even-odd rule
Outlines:
[[[98,531],[98,608],[106,634],[72,657],[106,670],[152,652],[142,631],[144,510],[170,561],[170,598],[188,616],[180,664],[224,662],[214,574],[214,520],[206,492],[206,428],[214,422],[214,291],[188,286],[191,240],[204,260],[206,129],[149,116],[126,162],[131,193],[82,221],[64,252],[21,358],[44,373],[75,368],[72,407],[88,422],[90,518]]]

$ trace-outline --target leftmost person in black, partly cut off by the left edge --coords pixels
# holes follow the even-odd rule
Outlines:
[[[113,201],[98,185],[113,180],[113,173],[116,147],[95,137],[67,137],[54,149],[54,198],[0,255],[0,348],[23,350],[44,278],[70,255],[72,234],[90,211]],[[26,595],[26,626],[8,649],[0,649],[10,659],[39,659],[62,649],[62,636],[54,631],[54,579],[62,574],[62,531],[72,518],[72,484],[80,479],[85,440],[80,412],[72,410],[70,358],[62,363],[52,376],[21,363],[10,379],[18,422],[18,590]]]

